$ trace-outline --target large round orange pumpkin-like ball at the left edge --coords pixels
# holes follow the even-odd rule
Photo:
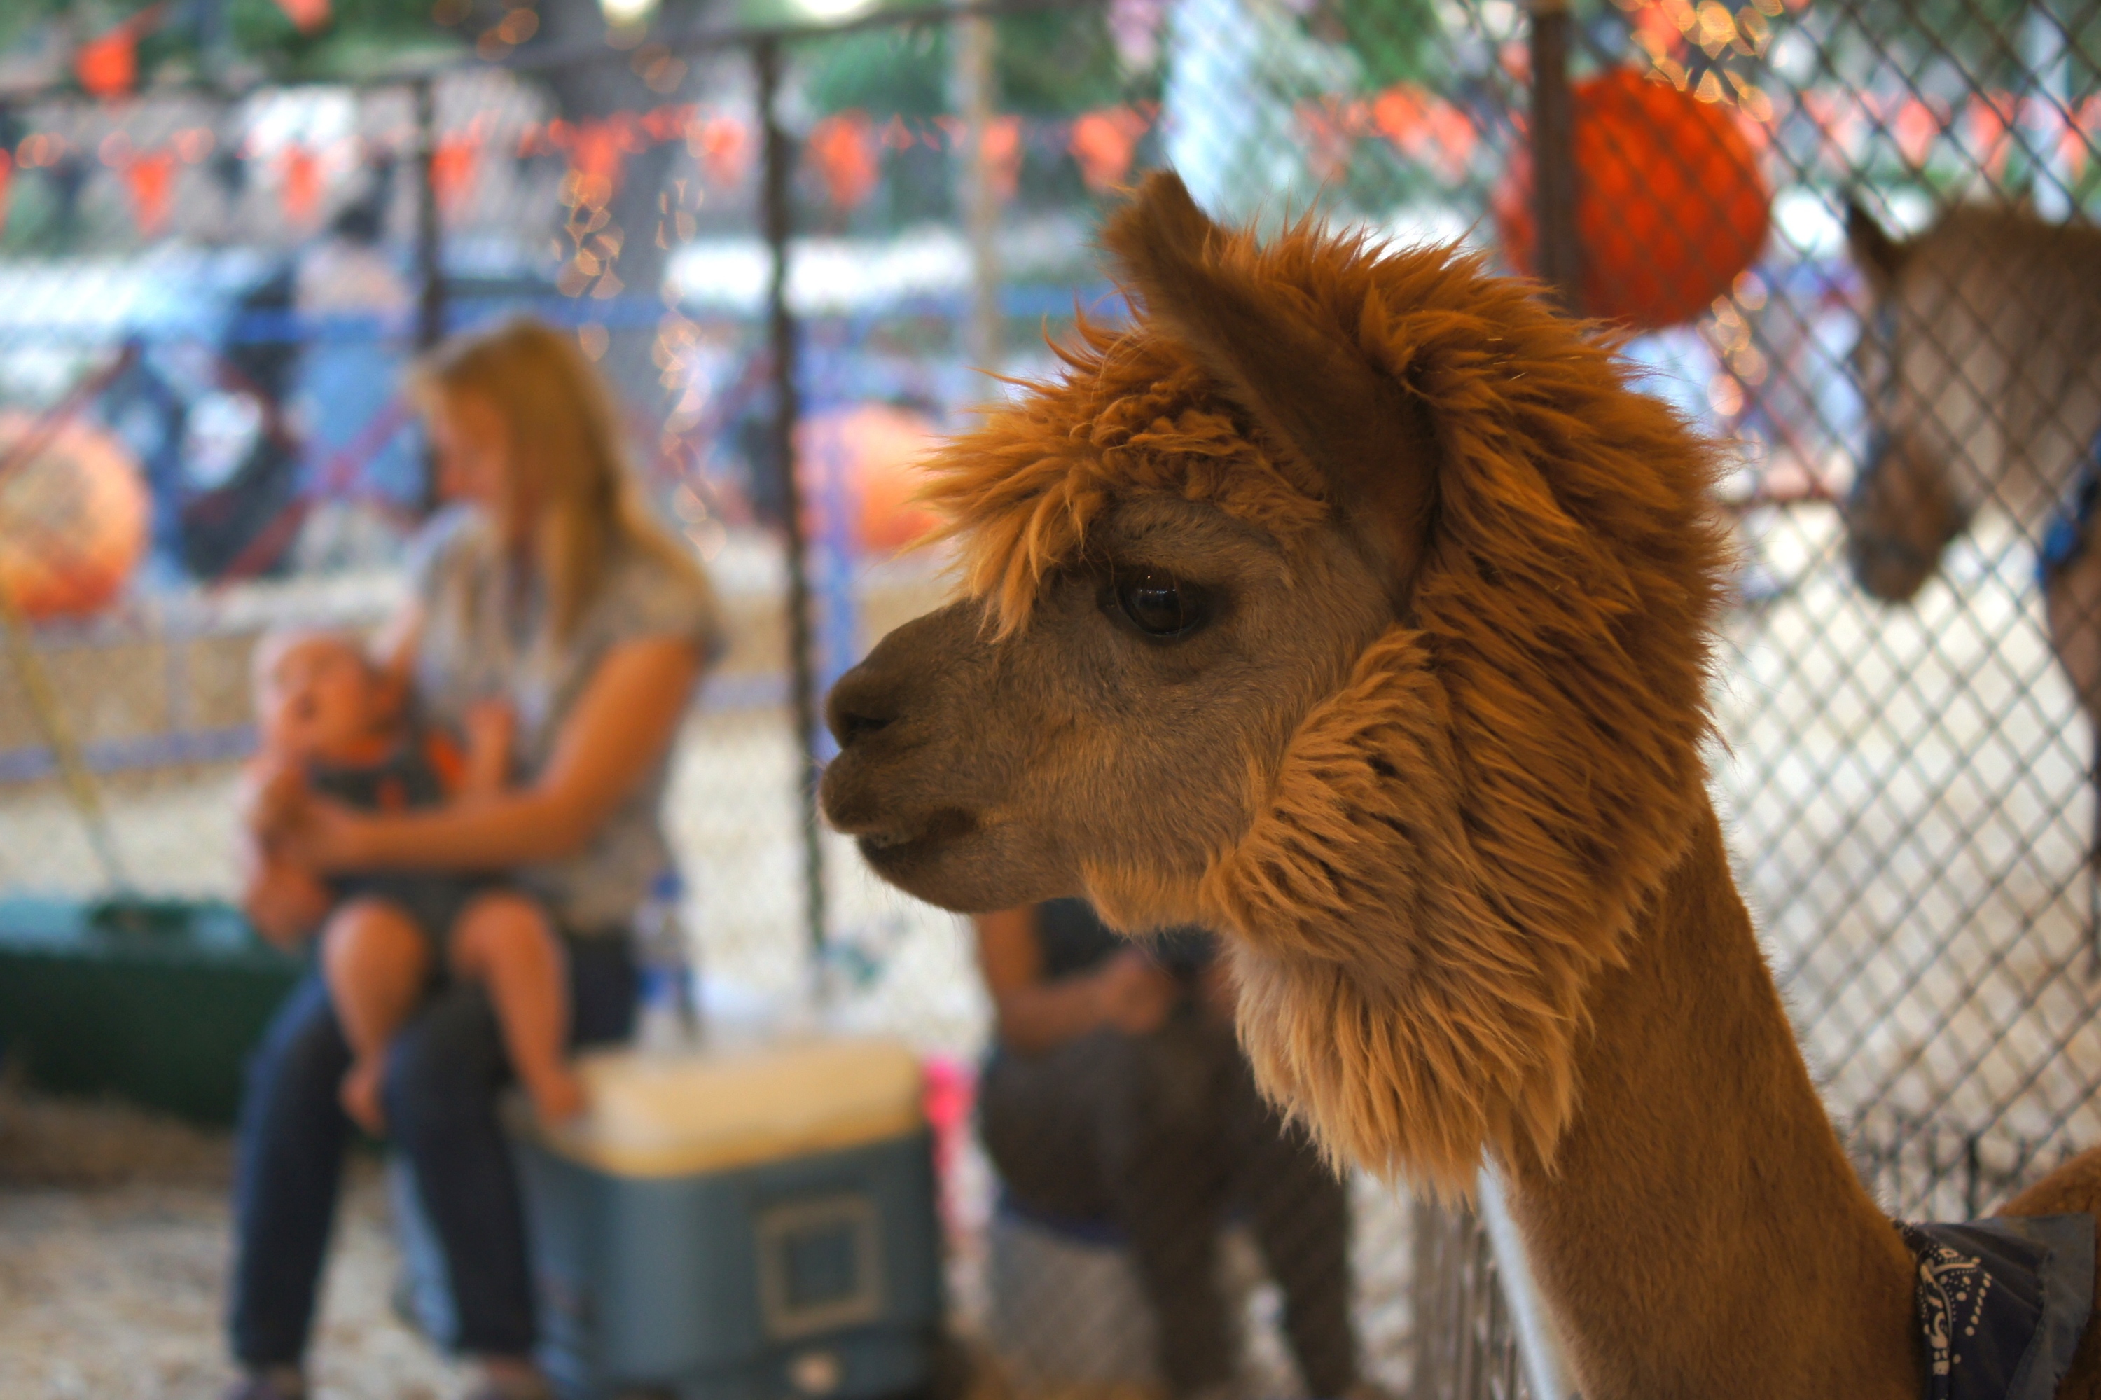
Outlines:
[[[0,465],[34,427],[27,414],[0,414]],[[101,429],[67,423],[0,475],[0,589],[32,620],[101,612],[139,568],[147,517],[130,450]]]

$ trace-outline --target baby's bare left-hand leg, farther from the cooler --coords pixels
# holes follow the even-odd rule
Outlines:
[[[387,1047],[416,1009],[431,977],[431,940],[416,921],[384,900],[351,900],[321,931],[321,975],[351,1043],[342,1076],[342,1112],[366,1129],[384,1127],[380,1080]]]

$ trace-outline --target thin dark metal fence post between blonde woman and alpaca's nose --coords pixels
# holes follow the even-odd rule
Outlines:
[[[788,664],[796,744],[803,755],[803,910],[813,956],[824,952],[824,837],[817,824],[817,675],[809,618],[809,540],[803,534],[803,488],[796,479],[794,429],[803,406],[796,395],[796,326],[788,311],[788,238],[794,231],[788,181],[794,145],[779,120],[782,53],[777,40],[752,46],[758,69],[763,143],[763,208],[773,275],[767,282],[767,330],[773,351],[773,460],[782,473],[782,521],[788,532]]]

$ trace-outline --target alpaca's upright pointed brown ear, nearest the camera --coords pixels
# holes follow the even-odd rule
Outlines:
[[[1322,475],[1401,610],[1435,502],[1422,406],[1372,364],[1349,326],[1332,324],[1303,292],[1223,259],[1225,233],[1179,174],[1151,174],[1103,227],[1101,244],[1153,326]]]

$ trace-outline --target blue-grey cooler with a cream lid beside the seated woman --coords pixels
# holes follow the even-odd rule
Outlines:
[[[580,1123],[515,1135],[540,1358],[565,1398],[929,1385],[941,1236],[910,1049],[605,1051],[582,1074]]]

